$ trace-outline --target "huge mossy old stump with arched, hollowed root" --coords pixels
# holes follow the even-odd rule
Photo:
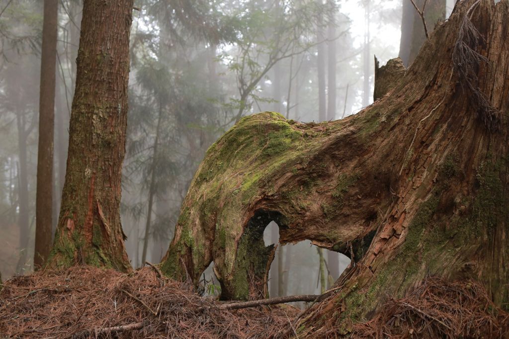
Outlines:
[[[200,165],[163,271],[196,283],[214,260],[222,298],[264,295],[273,248],[263,231],[275,220],[280,243],[309,239],[353,261],[301,318],[304,334],[347,331],[347,318],[372,317],[428,275],[478,279],[507,308],[509,1],[471,5],[457,5],[357,115],[239,121]],[[467,40],[467,14],[482,46]],[[476,66],[473,50],[486,61]]]

